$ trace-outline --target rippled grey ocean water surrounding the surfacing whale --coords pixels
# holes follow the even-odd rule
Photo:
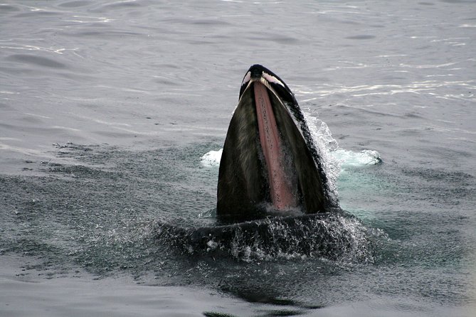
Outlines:
[[[2,1],[1,316],[475,316],[476,3]],[[216,225],[260,63],[346,215]]]

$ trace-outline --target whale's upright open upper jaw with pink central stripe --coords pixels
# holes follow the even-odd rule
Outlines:
[[[290,88],[268,68],[252,65],[223,144],[218,219],[234,223],[339,208],[320,153]]]

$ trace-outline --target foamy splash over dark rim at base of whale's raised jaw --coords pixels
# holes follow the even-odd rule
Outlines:
[[[216,227],[155,225],[157,240],[184,254],[231,256],[245,262],[319,257],[371,262],[370,232],[347,213],[274,217]]]

